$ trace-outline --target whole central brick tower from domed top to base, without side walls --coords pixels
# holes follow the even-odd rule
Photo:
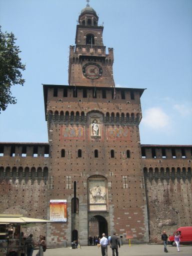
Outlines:
[[[112,231],[148,242],[139,122],[144,89],[115,88],[113,49],[87,3],[70,46],[69,85],[43,85],[49,139],[49,200],[66,199],[67,221],[51,223],[52,245]]]

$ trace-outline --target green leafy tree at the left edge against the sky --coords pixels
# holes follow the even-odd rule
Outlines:
[[[15,40],[12,32],[3,33],[0,27],[0,111],[5,110],[8,104],[16,103],[11,86],[24,83],[21,70],[25,69],[25,65],[21,63],[21,51],[15,45]]]

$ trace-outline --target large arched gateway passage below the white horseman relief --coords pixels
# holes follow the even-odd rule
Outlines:
[[[90,218],[88,222],[88,237],[99,236],[102,237],[102,233],[108,236],[108,225],[104,217],[95,215]]]

